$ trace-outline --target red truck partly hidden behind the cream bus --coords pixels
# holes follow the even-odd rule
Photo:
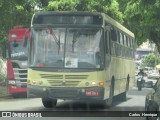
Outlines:
[[[29,36],[29,28],[23,26],[15,26],[9,31],[7,78],[8,92],[13,97],[27,95],[28,47],[25,38]]]

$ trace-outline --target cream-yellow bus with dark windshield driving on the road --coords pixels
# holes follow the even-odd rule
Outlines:
[[[135,85],[134,34],[104,13],[38,12],[31,21],[28,97],[46,108],[58,99],[127,99]]]

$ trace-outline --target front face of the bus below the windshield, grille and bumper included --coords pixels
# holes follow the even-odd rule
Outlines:
[[[104,87],[99,87],[99,82],[104,79],[104,76],[100,73],[101,72],[52,73],[29,69],[28,93],[32,94],[30,95],[31,97],[36,95],[38,95],[37,97],[42,97],[46,91],[50,93],[52,90],[53,98],[86,99],[86,97],[90,98],[91,96],[94,99],[102,100],[104,98]],[[48,86],[50,87],[48,88]],[[67,91],[68,95],[65,93]],[[87,93],[85,94],[86,91],[88,91],[88,95],[86,95]],[[89,95],[92,94],[89,93],[89,91],[95,95]],[[54,96],[54,93],[61,95],[64,93],[64,96]],[[50,94],[48,94],[47,97],[49,96]]]

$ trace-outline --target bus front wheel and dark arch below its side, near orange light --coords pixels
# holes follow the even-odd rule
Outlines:
[[[106,99],[104,102],[105,107],[111,107],[113,103],[113,97],[114,97],[114,81],[112,80],[111,86],[110,86],[110,93],[109,93],[109,98]]]

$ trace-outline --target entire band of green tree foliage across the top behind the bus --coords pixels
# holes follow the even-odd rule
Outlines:
[[[135,33],[137,45],[149,39],[160,52],[159,0],[0,0],[0,48],[8,31],[15,25],[29,26],[37,10],[107,13]]]

